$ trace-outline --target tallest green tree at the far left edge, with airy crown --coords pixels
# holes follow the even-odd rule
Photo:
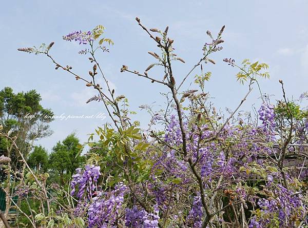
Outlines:
[[[11,182],[14,180],[12,172],[18,172],[20,178],[24,178],[25,164],[20,161],[17,148],[27,157],[35,140],[52,133],[49,122],[52,121],[53,113],[41,106],[41,100],[41,95],[35,90],[15,94],[6,87],[0,91],[0,151],[11,158],[7,164],[7,170],[11,172],[0,174],[2,179],[6,179],[5,184],[2,184],[6,192],[11,192]],[[5,216],[8,215],[9,205],[10,198],[7,195]]]

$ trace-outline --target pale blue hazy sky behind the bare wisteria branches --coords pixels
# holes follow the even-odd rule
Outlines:
[[[225,57],[232,57],[238,63],[249,58],[269,64],[271,79],[261,80],[260,84],[263,92],[274,95],[273,101],[281,98],[278,79],[283,79],[289,97],[298,98],[308,90],[308,1],[305,0],[3,1],[0,9],[0,88],[9,86],[15,92],[36,89],[43,97],[43,106],[51,108],[56,115],[104,113],[102,103],[86,105],[86,100],[93,95],[89,88],[66,72],[55,71],[46,57],[17,51],[20,47],[53,41],[51,53],[60,63],[87,74],[91,65],[85,56],[78,54],[81,47],[65,42],[62,36],[74,30],[91,30],[101,24],[106,27],[106,36],[115,43],[110,53],[99,55],[104,72],[116,93],[125,94],[131,110],[138,112],[135,118],[146,126],[148,116],[138,107],[157,101],[153,106],[160,108],[158,103],[163,99],[159,92],[166,89],[134,75],[120,73],[123,64],[142,72],[152,63],[147,52],[157,51],[152,40],[137,25],[136,16],[149,28],[169,26],[176,53],[186,61],[174,64],[178,81],[200,59],[202,46],[208,41],[206,31],[216,34],[222,25],[226,26],[224,49],[211,56],[217,64],[204,66],[213,76],[206,90],[221,110],[235,108],[247,89],[236,81],[236,69],[222,62]],[[183,88],[188,88],[189,82],[191,80]],[[258,107],[258,98],[255,90],[243,109],[249,110],[253,104]],[[71,132],[83,142],[88,133],[106,120],[55,120],[51,123],[54,134],[37,143],[51,150],[56,141]]]

